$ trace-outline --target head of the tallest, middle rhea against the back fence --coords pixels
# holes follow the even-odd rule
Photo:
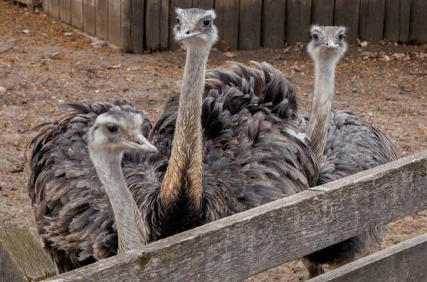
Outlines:
[[[218,40],[218,29],[214,25],[214,10],[198,8],[176,9],[178,23],[174,27],[176,41],[186,46],[201,45],[211,48]]]

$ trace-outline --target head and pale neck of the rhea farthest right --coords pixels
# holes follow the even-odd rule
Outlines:
[[[319,162],[326,146],[327,131],[334,100],[335,68],[347,51],[342,26],[312,26],[307,51],[315,62],[315,94],[307,128],[310,147]]]

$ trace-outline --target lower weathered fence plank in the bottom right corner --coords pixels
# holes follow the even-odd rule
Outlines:
[[[309,282],[426,281],[427,234],[334,269]]]

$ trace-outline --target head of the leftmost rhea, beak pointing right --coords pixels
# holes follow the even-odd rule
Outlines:
[[[122,155],[130,151],[157,152],[142,132],[144,116],[140,113],[122,110],[114,106],[102,113],[88,132],[88,146],[91,155],[96,153]]]

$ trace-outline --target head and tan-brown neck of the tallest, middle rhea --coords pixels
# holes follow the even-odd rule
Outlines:
[[[214,26],[216,14],[212,10],[176,9],[176,14],[175,39],[185,44],[187,53],[172,155],[162,182],[160,202],[168,207],[184,196],[189,199],[189,209],[198,211],[203,193],[204,78],[209,51],[218,38],[218,31]]]

